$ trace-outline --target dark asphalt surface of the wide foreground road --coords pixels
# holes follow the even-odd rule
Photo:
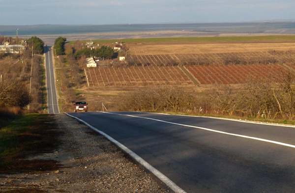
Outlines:
[[[119,113],[70,114],[118,140],[187,193],[295,193],[295,128]]]

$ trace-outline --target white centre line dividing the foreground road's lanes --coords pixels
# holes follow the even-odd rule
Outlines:
[[[102,112],[102,111],[99,111],[99,112]],[[220,133],[220,134],[225,134],[225,135],[229,135],[229,136],[236,136],[236,137],[240,137],[240,138],[249,138],[249,139],[254,139],[254,140],[258,140],[258,141],[264,141],[264,142],[268,142],[268,143],[273,143],[273,144],[277,144],[277,145],[282,145],[282,146],[286,146],[286,147],[295,148],[295,145],[288,144],[288,143],[283,143],[283,142],[279,142],[279,141],[273,141],[273,140],[268,140],[268,139],[264,139],[264,138],[256,138],[256,137],[251,137],[251,136],[244,136],[244,135],[239,135],[239,134],[233,134],[233,133],[208,129],[208,128],[204,128],[204,127],[197,127],[197,126],[192,126],[192,125],[185,125],[185,124],[180,124],[180,123],[164,121],[164,120],[160,120],[160,119],[148,118],[148,117],[143,117],[143,116],[135,116],[135,115],[131,115],[131,114],[119,114],[119,113],[114,113],[114,112],[102,112],[102,113],[148,119],[148,120],[159,121],[159,122],[173,124],[173,125],[179,125],[179,126],[183,126],[183,127],[191,127],[191,128],[196,128],[196,129],[202,129],[202,130],[215,132],[215,133]]]

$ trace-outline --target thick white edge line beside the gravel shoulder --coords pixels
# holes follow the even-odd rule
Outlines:
[[[115,143],[121,150],[123,150],[125,153],[127,153],[129,156],[131,156],[136,162],[138,162],[140,165],[144,166],[148,171],[150,171],[152,174],[154,174],[159,180],[161,180],[166,186],[168,186],[172,191],[175,193],[186,193],[184,190],[182,190],[180,187],[178,187],[173,181],[171,181],[167,176],[165,176],[163,173],[161,173],[159,170],[154,168],[152,165],[148,164],[144,159],[142,159],[140,156],[138,156],[136,153],[131,151],[129,148],[118,142],[116,139],[112,138],[111,136],[105,134],[104,132],[98,130],[97,128],[91,126],[86,121],[83,121],[79,119],[78,117],[72,116],[68,113],[65,113],[66,115],[75,118],[79,120],[80,122],[87,125],[92,130],[96,131],[97,133],[101,134],[105,138],[109,139],[111,142]]]

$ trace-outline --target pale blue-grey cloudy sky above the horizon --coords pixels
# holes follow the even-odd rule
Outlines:
[[[0,0],[0,25],[295,21],[295,0]]]

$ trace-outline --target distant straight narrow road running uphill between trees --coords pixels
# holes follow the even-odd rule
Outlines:
[[[46,83],[47,83],[47,105],[48,113],[56,114],[59,113],[59,105],[57,98],[57,90],[54,77],[54,67],[52,62],[52,53],[49,50],[50,47],[45,47],[46,57]]]

